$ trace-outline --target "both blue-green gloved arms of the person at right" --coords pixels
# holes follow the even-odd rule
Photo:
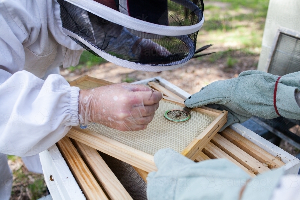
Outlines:
[[[188,97],[187,107],[227,110],[225,129],[252,115],[300,120],[300,72],[282,77],[250,70],[237,78],[213,82]],[[149,200],[292,200],[300,198],[300,176],[283,175],[283,167],[251,178],[226,159],[195,163],[172,149],[154,156],[157,172],[147,177]]]

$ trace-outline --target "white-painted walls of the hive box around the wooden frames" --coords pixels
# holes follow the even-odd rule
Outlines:
[[[145,79],[134,84],[147,84],[150,81],[159,81],[162,86],[177,94],[179,97],[186,99],[190,96],[189,93],[180,89],[176,85],[168,82],[161,77],[155,77],[151,79]],[[235,130],[238,134],[253,142],[255,145],[264,149],[273,156],[279,156],[281,161],[285,163],[283,166],[286,174],[298,174],[300,168],[300,160],[292,156],[291,154],[283,151],[281,148],[273,145],[271,142],[265,140],[261,136],[257,135],[253,131],[243,127],[241,124],[232,124],[230,126],[232,130]],[[79,188],[78,183],[73,177],[67,163],[63,159],[60,151],[56,145],[53,145],[49,149],[40,153],[40,160],[43,167],[43,173],[46,181],[46,185],[50,191],[53,200],[83,200],[85,196]],[[49,176],[52,175],[54,181],[49,180]]]

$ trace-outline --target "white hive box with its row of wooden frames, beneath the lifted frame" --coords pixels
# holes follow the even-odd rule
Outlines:
[[[85,77],[81,78],[85,80]],[[95,81],[97,82],[98,79],[95,79]],[[169,93],[169,97],[167,98],[172,100],[176,99],[181,102],[182,99],[190,96],[187,92],[161,77],[142,80],[137,82],[137,84],[146,84],[151,81],[159,82],[158,85],[154,85],[157,87],[162,86],[158,88],[158,90],[164,94]],[[109,85],[111,83],[103,81],[101,84]],[[164,91],[165,89],[167,90]],[[80,155],[76,153],[76,150]],[[52,174],[55,179],[55,181],[52,182],[49,181],[49,178],[45,178],[47,187],[55,199],[95,199],[95,193],[98,193],[98,196],[103,194],[101,190],[104,190],[109,197],[108,199],[132,199],[94,148],[65,137],[56,145],[40,153],[40,158],[44,176],[49,177],[49,174]],[[232,161],[251,177],[255,177],[257,173],[261,173],[258,170],[261,164],[263,165],[261,168],[264,168],[263,171],[283,167],[286,173],[292,174],[298,174],[300,166],[298,159],[243,127],[241,124],[232,124],[221,133],[217,133],[213,139],[205,145],[202,151],[199,152],[195,161],[200,162],[202,160],[218,158],[226,158]],[[241,158],[243,159],[241,160]],[[259,161],[259,163],[253,159]],[[137,167],[134,167],[134,169],[141,178],[146,181],[148,173]],[[70,170],[72,172],[70,172]],[[94,176],[86,177],[90,172],[92,172]],[[83,176],[82,173],[86,173],[86,175]],[[76,182],[80,185],[84,196],[74,178],[76,178]],[[84,178],[84,180],[82,180],[82,178]],[[101,190],[96,184],[93,184],[95,181],[101,185]]]

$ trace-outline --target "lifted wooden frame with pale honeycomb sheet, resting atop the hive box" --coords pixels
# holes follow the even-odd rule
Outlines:
[[[70,85],[80,89],[107,84],[110,83],[88,76],[70,82]],[[145,130],[122,132],[102,124],[89,124],[86,129],[73,127],[67,136],[146,172],[157,170],[153,156],[161,148],[173,148],[195,160],[205,144],[226,123],[227,112],[206,107],[195,108],[190,112],[190,120],[171,122],[164,118],[164,112],[182,109],[184,104],[183,99],[170,94],[161,100],[152,122]]]

